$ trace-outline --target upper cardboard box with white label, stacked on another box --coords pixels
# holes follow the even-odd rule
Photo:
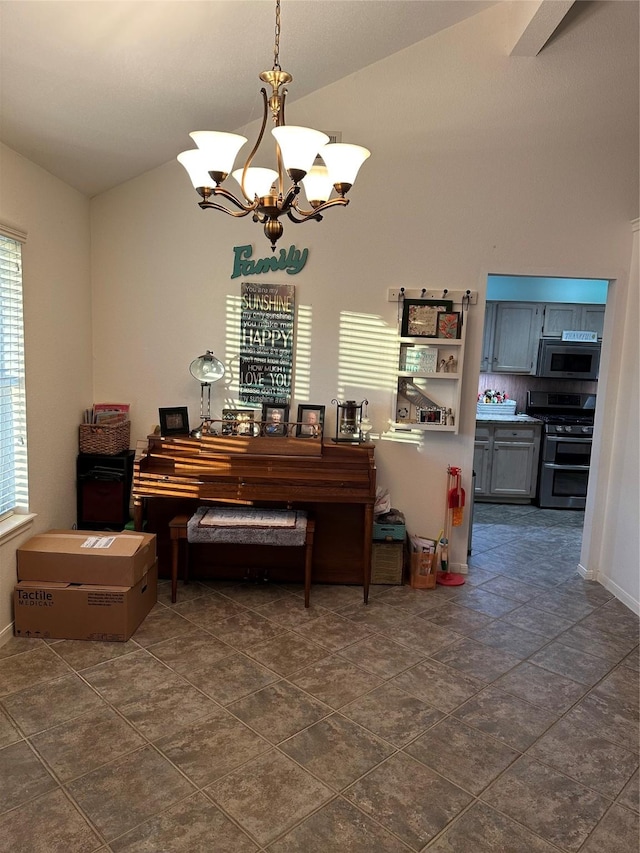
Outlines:
[[[153,533],[49,530],[17,551],[19,581],[135,586],[156,561]]]

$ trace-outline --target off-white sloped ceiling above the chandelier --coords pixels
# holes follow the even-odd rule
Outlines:
[[[496,0],[283,0],[289,103]],[[570,3],[568,5],[571,5]],[[262,114],[273,0],[0,0],[0,140],[87,196]]]

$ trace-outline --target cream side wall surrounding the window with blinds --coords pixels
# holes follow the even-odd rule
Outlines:
[[[91,405],[89,202],[0,146],[0,222],[26,232],[24,324],[33,524],[0,545],[0,638],[12,621],[15,549],[33,533],[75,523],[78,423]]]

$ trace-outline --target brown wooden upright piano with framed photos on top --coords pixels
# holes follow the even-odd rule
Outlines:
[[[135,528],[142,530],[146,522],[156,533],[165,576],[171,559],[168,524],[175,515],[218,503],[286,506],[315,518],[313,582],[362,584],[365,602],[375,494],[373,444],[289,436],[153,435],[135,460],[132,488]],[[215,558],[211,548],[191,548],[194,577],[242,577],[244,546],[217,545]],[[262,549],[260,563],[272,580],[299,580],[290,556],[295,550]]]

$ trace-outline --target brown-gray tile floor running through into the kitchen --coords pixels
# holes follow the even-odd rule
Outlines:
[[[630,853],[638,619],[582,514],[476,506],[462,587],[193,583],[0,648],[0,851]]]

